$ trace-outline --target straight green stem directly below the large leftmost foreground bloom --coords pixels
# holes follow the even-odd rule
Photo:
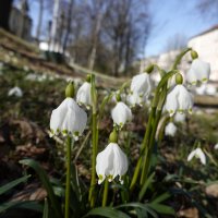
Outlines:
[[[71,189],[71,136],[66,138],[66,177],[65,177],[65,214],[64,218],[70,217],[70,189]]]

